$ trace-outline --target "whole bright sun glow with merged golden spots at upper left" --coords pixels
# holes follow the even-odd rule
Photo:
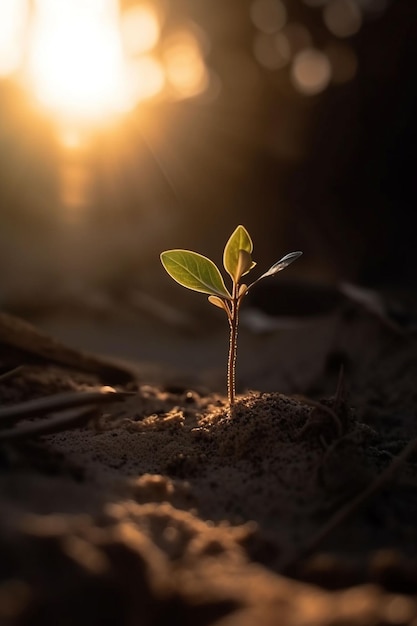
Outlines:
[[[0,0],[0,79],[15,74],[74,148],[142,100],[209,90],[204,31],[161,43],[164,20],[148,0]]]

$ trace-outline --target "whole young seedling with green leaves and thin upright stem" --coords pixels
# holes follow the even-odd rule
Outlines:
[[[162,265],[177,283],[193,291],[209,294],[209,302],[223,309],[230,326],[229,357],[227,362],[227,394],[230,408],[236,397],[236,350],[239,309],[243,298],[256,283],[268,276],[275,276],[301,256],[302,252],[290,252],[274,263],[267,272],[249,285],[241,278],[256,265],[252,261],[253,243],[244,226],[238,226],[230,235],[223,252],[223,265],[232,279],[232,292],[224,284],[218,267],[205,256],[191,250],[166,250],[161,253]]]

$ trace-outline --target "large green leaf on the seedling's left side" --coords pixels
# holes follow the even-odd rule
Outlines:
[[[191,250],[166,250],[161,254],[161,262],[171,278],[183,287],[231,299],[218,268],[202,254]]]

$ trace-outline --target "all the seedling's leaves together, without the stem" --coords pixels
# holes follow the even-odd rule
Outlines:
[[[244,226],[238,226],[229,237],[223,253],[223,265],[234,284],[239,284],[242,276],[255,267],[256,263],[252,261],[251,256],[252,250],[253,243],[248,231]],[[291,252],[285,255],[249,285],[244,293],[247,293],[248,289],[262,278],[274,276],[286,268],[301,254],[301,252]],[[218,267],[207,257],[191,250],[167,250],[162,252],[161,261],[171,278],[183,287],[207,293],[222,300],[232,300]],[[214,298],[210,301],[217,304]],[[217,306],[220,306],[220,303]]]

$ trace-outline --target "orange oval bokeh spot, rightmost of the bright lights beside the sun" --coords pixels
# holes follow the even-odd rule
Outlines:
[[[191,32],[184,30],[170,37],[165,45],[164,64],[176,96],[189,98],[207,89],[208,72],[199,43]]]

